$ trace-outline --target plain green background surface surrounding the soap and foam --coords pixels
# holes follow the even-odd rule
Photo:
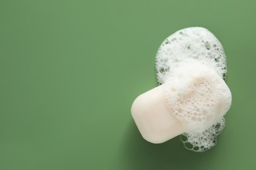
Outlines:
[[[255,169],[256,1],[0,1],[0,169]],[[228,58],[219,144],[151,144],[131,104],[161,42],[202,26]],[[254,167],[254,168],[253,168]]]

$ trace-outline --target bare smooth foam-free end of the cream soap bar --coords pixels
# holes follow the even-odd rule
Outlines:
[[[185,127],[167,107],[164,86],[139,95],[131,107],[131,114],[142,137],[150,143],[163,143],[185,131]]]

